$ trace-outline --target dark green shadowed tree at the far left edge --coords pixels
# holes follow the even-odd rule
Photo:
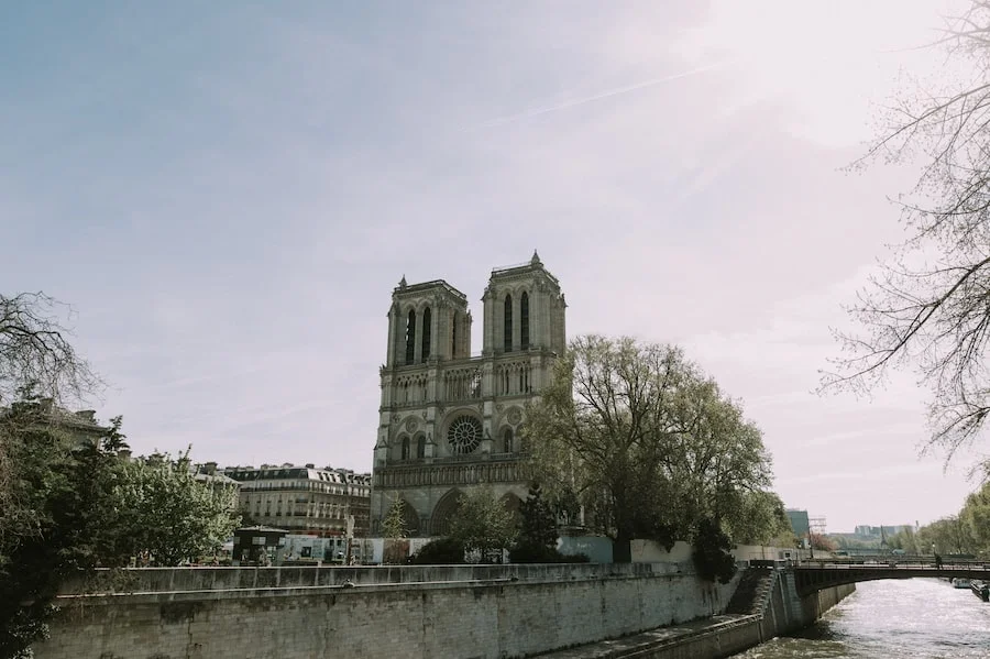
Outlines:
[[[101,439],[65,432],[36,400],[0,414],[11,461],[10,505],[0,516],[0,657],[31,656],[63,580],[124,560],[112,494],[119,461]]]

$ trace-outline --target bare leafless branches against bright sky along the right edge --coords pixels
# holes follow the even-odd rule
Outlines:
[[[823,386],[869,389],[913,369],[932,389],[928,447],[950,459],[990,416],[990,0],[946,19],[932,47],[944,74],[911,80],[856,163],[925,165],[897,200],[909,238],[849,307],[858,329],[836,332],[844,350]]]

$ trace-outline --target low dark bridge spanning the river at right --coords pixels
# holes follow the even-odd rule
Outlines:
[[[990,582],[990,564],[982,561],[954,561],[936,565],[930,557],[884,556],[877,559],[849,561],[824,559],[803,561],[792,569],[799,594],[809,595],[822,589],[877,581],[879,579],[963,578]]]

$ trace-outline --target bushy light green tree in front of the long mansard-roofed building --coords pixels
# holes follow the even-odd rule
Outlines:
[[[119,528],[132,553],[148,552],[158,565],[177,565],[216,549],[240,521],[237,490],[201,482],[189,451],[177,459],[155,454],[123,465],[116,494]]]

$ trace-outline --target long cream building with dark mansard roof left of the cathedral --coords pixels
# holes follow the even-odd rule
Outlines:
[[[371,474],[312,464],[263,464],[228,466],[223,475],[240,483],[241,513],[253,524],[333,537],[346,536],[353,518],[353,536],[367,535]]]

